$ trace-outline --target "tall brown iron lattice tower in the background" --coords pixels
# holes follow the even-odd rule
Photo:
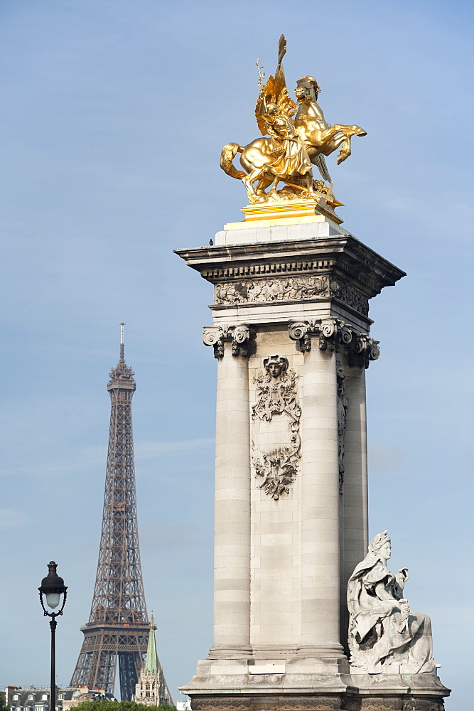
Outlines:
[[[131,700],[146,656],[150,632],[141,575],[136,519],[134,439],[131,398],[134,371],[120,358],[110,373],[109,448],[104,513],[94,597],[71,686],[114,693],[117,657],[122,700]]]

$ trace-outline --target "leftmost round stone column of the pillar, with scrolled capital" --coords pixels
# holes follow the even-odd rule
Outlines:
[[[250,652],[249,329],[212,328],[217,363],[214,642],[210,658]]]

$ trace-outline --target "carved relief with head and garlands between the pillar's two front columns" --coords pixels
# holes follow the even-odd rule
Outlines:
[[[259,488],[275,501],[289,493],[301,458],[296,378],[281,355],[264,358],[264,370],[254,378],[257,402],[252,407],[252,464],[255,476],[262,479]]]

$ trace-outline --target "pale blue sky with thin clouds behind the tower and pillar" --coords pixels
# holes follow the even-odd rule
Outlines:
[[[70,587],[58,681],[82,642],[97,564],[109,369],[119,321],[136,371],[146,600],[168,684],[212,643],[215,361],[210,284],[173,255],[239,220],[222,145],[258,135],[257,57],[313,74],[345,226],[408,276],[372,302],[370,528],[431,616],[447,710],[470,703],[473,348],[472,4],[2,0],[0,685],[48,684],[37,587]],[[469,627],[471,628],[469,629]]]

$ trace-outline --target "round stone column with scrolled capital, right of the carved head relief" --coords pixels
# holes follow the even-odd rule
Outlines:
[[[335,319],[290,326],[305,353],[301,404],[301,643],[298,654],[343,657],[339,634],[339,463]]]

